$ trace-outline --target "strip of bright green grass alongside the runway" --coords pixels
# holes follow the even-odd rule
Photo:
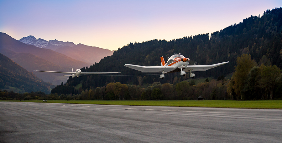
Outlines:
[[[16,101],[19,102],[19,101]],[[23,102],[23,101],[21,101]],[[24,101],[42,102],[42,101]],[[139,106],[176,106],[176,107],[219,107],[219,108],[254,108],[282,109],[282,100],[237,101],[237,100],[204,100],[204,101],[64,101],[49,100],[48,103],[104,104],[104,105],[139,105]]]

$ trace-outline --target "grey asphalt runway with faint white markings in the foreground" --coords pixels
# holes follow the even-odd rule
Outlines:
[[[282,110],[0,102],[0,142],[282,142]]]

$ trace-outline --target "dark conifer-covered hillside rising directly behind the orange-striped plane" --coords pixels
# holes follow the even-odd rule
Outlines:
[[[140,83],[178,83],[188,78],[179,73],[166,74],[165,79],[159,75],[144,75],[139,71],[124,67],[124,64],[137,64],[144,66],[160,66],[160,57],[165,60],[174,53],[181,53],[190,59],[190,65],[215,64],[229,61],[230,63],[206,72],[195,72],[196,78],[217,78],[234,72],[236,59],[242,54],[249,54],[258,64],[277,65],[282,68],[282,7],[267,10],[263,16],[251,16],[238,24],[209,34],[199,34],[183,37],[171,41],[151,40],[142,43],[130,43],[118,49],[112,56],[103,58],[99,63],[89,68],[81,69],[82,72],[121,72],[119,76],[82,76],[70,78],[64,85],[57,86],[52,93],[63,91],[64,94],[79,93],[82,90],[102,87],[107,83],[120,82],[124,84]],[[131,75],[131,76],[128,76]],[[74,86],[82,83],[80,91]]]

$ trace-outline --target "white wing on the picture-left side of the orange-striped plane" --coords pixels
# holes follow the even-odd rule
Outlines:
[[[172,67],[172,66],[142,66],[142,65],[134,65],[134,64],[125,64],[124,66],[130,69],[141,71],[142,73],[161,73],[162,71],[170,72],[176,69],[176,67]]]

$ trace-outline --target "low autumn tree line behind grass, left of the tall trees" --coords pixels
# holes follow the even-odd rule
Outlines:
[[[205,100],[223,100],[227,81],[198,83],[192,80],[175,85],[155,82],[146,88],[140,85],[108,83],[107,86],[86,89],[80,94],[45,94],[43,92],[14,93],[0,91],[0,100],[196,100],[203,96]],[[222,96],[223,95],[223,96]],[[226,97],[227,99],[227,97]]]

